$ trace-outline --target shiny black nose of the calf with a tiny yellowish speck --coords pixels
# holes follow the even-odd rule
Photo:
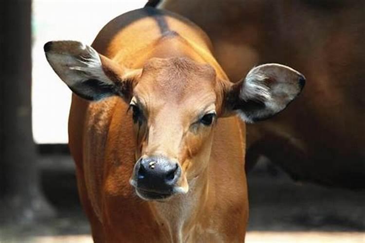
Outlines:
[[[137,187],[144,191],[171,194],[178,181],[181,168],[164,157],[147,157],[136,167]]]

